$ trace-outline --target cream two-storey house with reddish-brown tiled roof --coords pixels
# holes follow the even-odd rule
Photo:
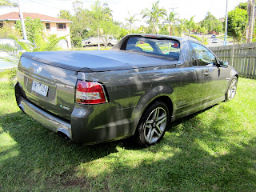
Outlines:
[[[23,13],[23,18],[31,19],[39,18],[45,26],[45,33],[46,34],[57,34],[58,37],[65,36],[66,42],[62,42],[63,46],[71,48],[71,41],[70,41],[70,23],[69,20],[62,19],[62,18],[54,18],[44,14],[35,14],[35,13]],[[9,14],[2,14],[0,15],[0,27],[7,23],[13,29],[15,28],[16,21],[20,20],[18,12],[11,12]]]

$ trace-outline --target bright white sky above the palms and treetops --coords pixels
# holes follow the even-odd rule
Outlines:
[[[10,0],[17,2],[17,0]],[[60,10],[70,10],[73,13],[72,0],[20,0],[23,5],[23,12],[46,14],[57,17]],[[83,8],[90,9],[90,5],[95,0],[80,0],[83,2]],[[151,9],[152,3],[156,0],[102,0],[102,3],[108,3],[113,10],[114,21],[124,22],[124,18],[128,18],[130,14],[138,14],[137,19],[142,20],[140,13],[142,10]],[[233,10],[240,2],[247,0],[228,0],[228,10]],[[226,14],[226,0],[160,0],[159,6],[165,8],[168,13],[174,10],[178,14],[178,18],[190,19],[194,16],[195,22],[202,21],[206,17],[207,11],[214,14],[216,18],[224,18]],[[0,7],[0,15],[18,11],[18,8]],[[134,25],[139,26],[142,22],[135,22]]]

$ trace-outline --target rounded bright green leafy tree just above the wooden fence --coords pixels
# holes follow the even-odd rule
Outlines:
[[[232,36],[234,41],[240,42],[242,35],[246,30],[247,25],[247,11],[240,8],[235,8],[228,13],[227,33]]]

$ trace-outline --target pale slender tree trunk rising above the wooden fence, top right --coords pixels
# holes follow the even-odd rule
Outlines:
[[[248,30],[246,33],[246,42],[253,42],[254,34],[254,10],[255,10],[255,0],[248,0],[247,2],[247,12],[248,12]]]

